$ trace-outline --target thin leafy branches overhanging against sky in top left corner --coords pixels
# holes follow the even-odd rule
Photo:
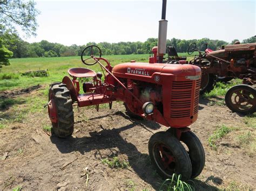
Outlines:
[[[3,0],[0,1],[0,24],[6,29],[14,30],[15,25],[30,36],[36,36],[38,24],[36,17],[39,11],[35,8],[36,3],[33,1],[22,0]]]

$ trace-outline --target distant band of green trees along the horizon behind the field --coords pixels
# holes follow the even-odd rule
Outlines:
[[[241,43],[254,43],[255,37],[243,40]],[[234,39],[231,44],[237,41]],[[211,40],[208,38],[181,40],[168,39],[166,46],[174,46],[177,52],[186,52],[191,43],[197,43],[197,46],[204,50],[204,44],[208,44],[208,48],[218,49],[222,45],[228,43],[224,40]],[[102,50],[103,55],[122,55],[122,54],[150,54],[151,49],[157,46],[157,38],[149,38],[144,43],[137,42],[120,42],[120,43],[94,43],[89,42],[86,45],[65,46],[59,43],[50,43],[42,40],[39,43],[28,43],[22,40],[17,33],[5,32],[3,34],[3,44],[11,51],[12,58],[35,58],[35,57],[60,57],[60,56],[79,56],[83,49],[88,45],[97,45]]]

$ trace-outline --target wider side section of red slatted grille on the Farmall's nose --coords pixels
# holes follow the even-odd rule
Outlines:
[[[193,81],[174,81],[171,92],[171,118],[190,117]]]

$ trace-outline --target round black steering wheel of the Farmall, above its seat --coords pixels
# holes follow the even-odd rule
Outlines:
[[[93,59],[93,56],[100,58],[102,56],[102,51],[96,45],[86,46],[81,54],[81,60],[85,65],[95,65],[97,61]]]

